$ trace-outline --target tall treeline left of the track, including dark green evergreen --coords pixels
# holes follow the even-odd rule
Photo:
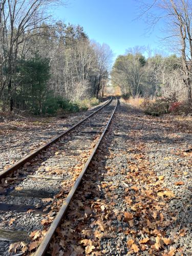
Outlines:
[[[104,92],[111,49],[90,41],[81,26],[51,25],[50,3],[0,0],[2,110],[53,114]]]

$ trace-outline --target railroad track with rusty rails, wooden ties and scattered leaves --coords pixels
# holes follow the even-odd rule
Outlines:
[[[22,255],[20,242],[30,244],[35,230],[48,230],[34,255],[46,253],[108,129],[117,102],[111,98],[90,116],[0,172],[0,255],[8,255],[12,243],[18,246],[12,255]]]

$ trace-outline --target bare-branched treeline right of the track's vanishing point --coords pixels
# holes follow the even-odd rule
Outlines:
[[[117,57],[111,77],[122,95],[146,98],[174,95],[181,101],[191,98],[183,80],[182,59],[176,55],[155,54],[145,58],[139,48],[131,49]]]

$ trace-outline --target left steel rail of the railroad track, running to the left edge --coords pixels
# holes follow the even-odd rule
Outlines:
[[[12,164],[10,167],[8,167],[5,170],[2,170],[0,172],[0,179],[4,178],[5,176],[7,176],[8,174],[12,173],[14,170],[18,169],[19,167],[23,166],[25,163],[27,163],[29,160],[33,159],[36,155],[38,155],[41,151],[46,150],[46,148],[48,146],[50,146],[51,144],[57,142],[62,136],[64,136],[65,134],[69,133],[70,131],[72,131],[73,129],[75,129],[75,127],[77,127],[79,124],[81,124],[82,122],[86,121],[88,118],[90,118],[91,116],[95,115],[98,111],[102,110],[106,105],[110,104],[112,101],[112,97],[110,100],[108,100],[108,102],[106,102],[104,105],[102,105],[98,110],[96,110],[95,112],[93,112],[92,114],[90,114],[88,117],[83,118],[81,121],[79,121],[78,123],[74,124],[72,127],[70,127],[67,131],[62,132],[60,135],[58,135],[57,137],[55,137],[54,139],[52,139],[51,141],[47,142],[45,145],[42,145],[40,147],[37,148],[37,150],[33,151],[32,153],[28,154],[27,156],[25,156],[24,158],[20,159],[19,161],[17,161],[16,163]]]

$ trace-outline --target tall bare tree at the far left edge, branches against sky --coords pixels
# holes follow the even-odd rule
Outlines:
[[[42,25],[49,17],[45,7],[54,3],[54,0],[1,0],[0,4],[0,96],[5,84],[8,84],[10,110],[13,110],[14,93],[13,76],[16,68],[18,48],[31,35],[31,31]],[[3,67],[7,73],[4,74]]]

